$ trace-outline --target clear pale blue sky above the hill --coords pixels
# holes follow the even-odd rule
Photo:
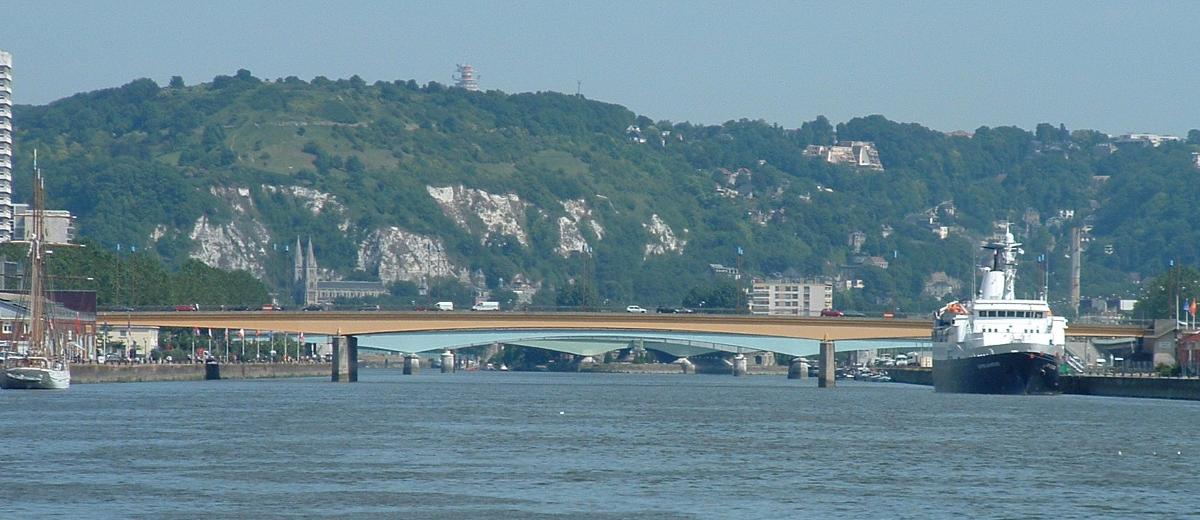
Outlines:
[[[574,92],[652,119],[1200,127],[1200,2],[0,0],[14,101],[248,68]]]

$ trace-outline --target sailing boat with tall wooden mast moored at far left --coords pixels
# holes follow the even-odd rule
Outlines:
[[[42,172],[34,153],[34,205],[29,223],[29,349],[10,354],[0,372],[4,389],[66,389],[71,385],[71,364],[61,341],[47,334],[46,309],[46,211]]]

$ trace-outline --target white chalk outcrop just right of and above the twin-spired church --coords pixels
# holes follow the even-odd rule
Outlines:
[[[450,263],[440,239],[398,227],[376,229],[367,235],[359,244],[356,268],[364,271],[378,269],[379,280],[384,283],[461,275],[461,269]]]

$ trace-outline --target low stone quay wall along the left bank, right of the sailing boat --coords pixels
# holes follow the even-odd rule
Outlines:
[[[274,377],[329,377],[328,363],[228,363],[221,365],[222,379],[260,379]],[[140,383],[154,381],[203,381],[204,365],[140,364],[140,365],[71,365],[71,383]]]

